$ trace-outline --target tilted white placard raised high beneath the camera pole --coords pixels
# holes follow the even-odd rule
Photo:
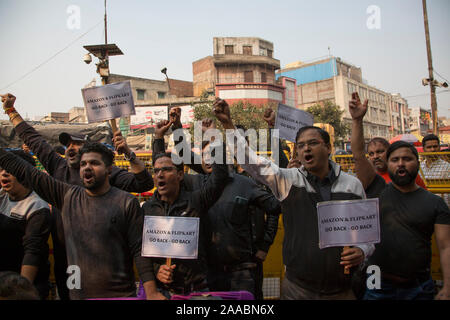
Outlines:
[[[81,94],[89,123],[135,114],[130,81],[84,88]]]

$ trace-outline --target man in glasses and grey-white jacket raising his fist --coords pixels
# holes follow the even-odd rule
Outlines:
[[[214,103],[214,113],[225,129],[235,130],[228,104]],[[256,180],[266,184],[281,202],[285,237],[283,262],[286,275],[281,299],[355,299],[351,274],[373,251],[373,245],[319,249],[317,203],[365,198],[358,179],[341,171],[329,160],[328,133],[318,127],[303,127],[296,137],[300,168],[282,169],[256,155],[236,132],[237,145],[244,145],[245,163],[240,164]],[[227,144],[232,143],[227,140]],[[229,147],[231,147],[229,145]],[[351,268],[344,274],[344,267]]]

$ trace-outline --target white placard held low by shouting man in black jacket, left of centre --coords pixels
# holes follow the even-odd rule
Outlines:
[[[197,259],[200,218],[145,216],[142,256]]]

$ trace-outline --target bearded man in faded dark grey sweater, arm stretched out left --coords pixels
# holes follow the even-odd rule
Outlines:
[[[163,298],[156,291],[151,262],[141,257],[144,217],[139,202],[109,183],[113,152],[100,143],[86,143],[80,155],[84,187],[56,180],[3,149],[0,166],[61,211],[74,270],[71,299],[136,296],[133,258],[147,299]]]

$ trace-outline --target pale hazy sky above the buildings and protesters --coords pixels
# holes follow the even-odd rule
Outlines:
[[[427,6],[443,82],[450,1]],[[274,44],[281,67],[331,53],[361,67],[369,85],[430,109],[421,0],[108,0],[107,12],[108,43],[124,53],[110,58],[111,73],[165,80],[167,67],[170,78],[192,81],[192,62],[213,54],[213,37],[259,37]],[[83,45],[104,43],[103,18],[104,0],[0,0],[0,93],[14,94],[30,118],[83,106],[81,88],[100,84]],[[437,92],[438,115],[450,117],[450,89]]]

